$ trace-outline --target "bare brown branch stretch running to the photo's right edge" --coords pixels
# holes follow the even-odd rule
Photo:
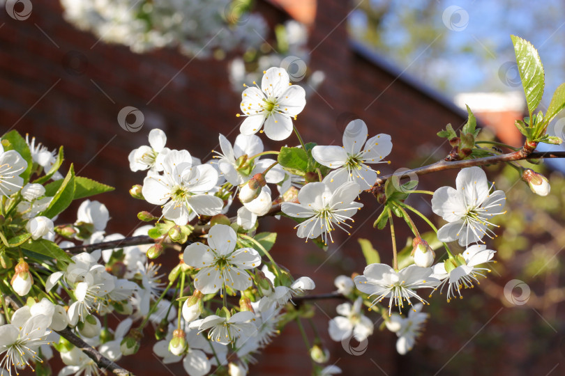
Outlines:
[[[429,164],[428,166],[418,167],[417,169],[402,171],[402,173],[393,173],[391,175],[384,175],[377,178],[377,181],[372,186],[373,188],[379,185],[384,185],[387,179],[393,176],[398,176],[402,178],[404,176],[409,177],[409,175],[425,175],[427,173],[434,173],[437,171],[451,170],[451,169],[463,169],[465,167],[472,166],[485,166],[487,164],[499,164],[513,161],[520,161],[524,159],[545,159],[545,158],[565,158],[565,152],[532,152],[527,154],[523,150],[517,152],[510,152],[503,155],[493,155],[492,157],[476,158],[476,159],[464,159],[462,161],[446,162],[439,161],[434,164]],[[370,191],[370,190],[369,190]]]

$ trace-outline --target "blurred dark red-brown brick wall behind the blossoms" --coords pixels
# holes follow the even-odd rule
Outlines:
[[[371,136],[381,132],[392,135],[393,164],[382,165],[383,173],[412,166],[428,143],[437,144],[435,132],[439,128],[446,123],[458,127],[464,118],[402,77],[398,79],[356,54],[348,45],[345,17],[349,6],[342,0],[325,0],[317,6],[309,40],[310,68],[323,70],[326,80],[310,97],[296,125],[305,139],[340,144],[347,120],[362,118]],[[287,17],[268,3],[259,3],[258,8],[273,24]],[[25,21],[15,21],[0,11],[0,130],[29,133],[51,149],[63,145],[65,171],[73,162],[80,175],[116,187],[96,199],[110,208],[110,233],[128,235],[139,224],[135,214],[150,207],[128,195],[131,185],[143,178],[142,173],[128,169],[130,150],[147,144],[149,130],[160,127],[167,134],[169,148],[187,148],[207,160],[217,148],[219,132],[234,140],[239,129],[235,113],[240,95],[229,88],[225,61],[191,59],[170,49],[133,54],[128,47],[105,45],[90,33],[78,31],[61,14],[58,1],[46,0],[33,1],[33,12]],[[70,58],[82,63],[70,66]],[[129,133],[119,127],[116,116],[125,106],[144,113],[145,125],[140,132]],[[292,137],[287,142],[298,143]],[[447,151],[444,145],[439,155]],[[437,186],[430,181],[423,178],[421,187]],[[273,250],[277,260],[296,276],[311,276],[317,283],[316,292],[329,292],[334,289],[333,276],[363,270],[356,237],[370,238],[384,260],[391,258],[390,238],[386,232],[377,235],[370,226],[379,206],[368,195],[363,203],[366,208],[355,218],[354,236],[336,234],[336,243],[327,253],[299,240],[292,222],[286,219],[269,219],[261,230],[279,232]],[[423,202],[412,205],[430,211]],[[74,221],[74,210],[62,219]],[[378,374],[375,363],[389,375],[398,370],[397,363],[402,361],[394,352],[393,334],[375,330],[365,356],[353,357],[326,335],[328,320],[336,314],[336,301],[320,301],[317,306],[315,324],[331,350],[330,362],[337,362],[345,375]],[[296,324],[289,324],[283,336],[258,357],[259,365],[251,369],[251,375],[308,375],[311,366],[304,350]],[[150,345],[120,363],[137,375],[166,372],[151,354]],[[174,374],[184,373],[180,364],[167,367]]]

